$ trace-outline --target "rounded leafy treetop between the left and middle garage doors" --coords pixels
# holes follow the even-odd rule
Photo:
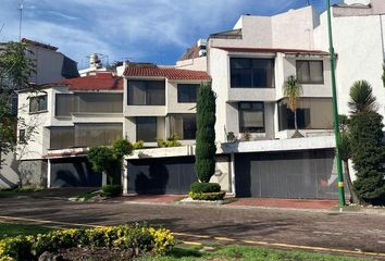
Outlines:
[[[112,174],[113,165],[116,164],[116,158],[112,148],[107,146],[92,147],[89,149],[87,156],[94,171]]]

